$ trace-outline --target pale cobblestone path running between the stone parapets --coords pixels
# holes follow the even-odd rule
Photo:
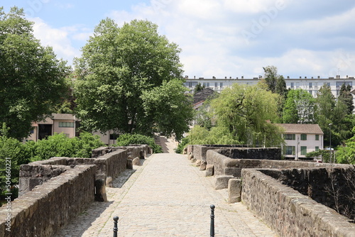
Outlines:
[[[211,204],[215,236],[276,236],[242,204],[227,204],[226,189],[212,188],[212,177],[194,167],[186,155],[155,154],[142,166],[126,170],[107,188],[109,202],[94,202],[56,235],[209,236]]]

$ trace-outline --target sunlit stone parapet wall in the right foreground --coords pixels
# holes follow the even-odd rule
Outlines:
[[[244,169],[242,202],[280,236],[355,236],[355,224],[258,170]]]

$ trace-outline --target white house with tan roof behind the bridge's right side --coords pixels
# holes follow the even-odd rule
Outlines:
[[[324,133],[318,124],[277,123],[284,128],[283,138],[286,145],[283,147],[285,158],[299,160],[305,158],[307,153],[323,150]]]

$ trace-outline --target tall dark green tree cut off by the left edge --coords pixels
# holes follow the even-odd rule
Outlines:
[[[5,13],[0,8],[0,123],[18,140],[29,135],[31,122],[43,120],[63,99],[70,70],[32,31],[22,9]]]

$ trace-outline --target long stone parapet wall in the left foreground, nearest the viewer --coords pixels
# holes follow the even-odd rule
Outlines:
[[[6,231],[9,212],[6,206],[1,207],[0,237],[53,236],[94,202],[95,173],[95,165],[68,167],[65,172],[15,199],[11,202],[11,232]]]

